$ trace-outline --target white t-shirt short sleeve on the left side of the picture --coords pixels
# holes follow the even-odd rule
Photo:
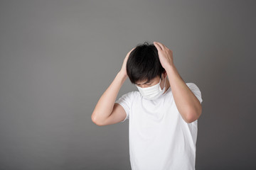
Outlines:
[[[129,119],[129,112],[132,106],[132,98],[133,98],[133,91],[122,95],[115,103],[119,103],[124,108],[125,113],[127,114],[126,118],[122,120],[121,122],[124,122],[125,120]]]

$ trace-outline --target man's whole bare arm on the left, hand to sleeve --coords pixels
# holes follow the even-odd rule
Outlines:
[[[134,48],[132,50],[134,50]],[[111,125],[119,123],[126,118],[124,108],[122,108],[118,103],[114,103],[114,101],[116,101],[117,94],[128,77],[126,64],[132,50],[127,53],[122,64],[122,69],[117,73],[116,77],[107,90],[102,94],[95,106],[91,118],[92,122],[96,125]]]

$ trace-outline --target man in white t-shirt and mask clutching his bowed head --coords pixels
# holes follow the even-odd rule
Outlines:
[[[195,169],[203,100],[196,84],[181,79],[172,54],[161,42],[134,47],[92,113],[97,125],[129,119],[132,170]],[[139,91],[115,101],[127,77]]]

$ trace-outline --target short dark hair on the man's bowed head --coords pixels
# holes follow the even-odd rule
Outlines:
[[[161,77],[164,71],[156,47],[146,41],[144,44],[138,44],[127,60],[127,76],[132,84]]]

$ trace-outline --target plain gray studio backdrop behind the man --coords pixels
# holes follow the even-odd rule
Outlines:
[[[256,1],[0,1],[0,169],[131,169],[95,105],[144,41],[201,89],[196,169],[255,169]],[[127,79],[117,98],[137,90]]]

